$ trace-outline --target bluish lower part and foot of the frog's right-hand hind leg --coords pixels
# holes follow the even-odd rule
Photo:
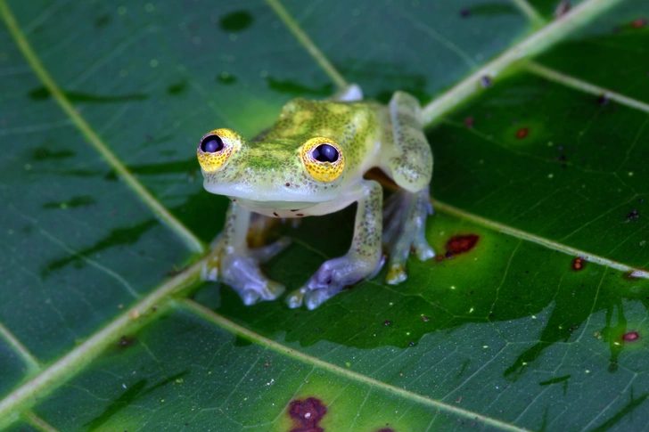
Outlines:
[[[388,274],[385,277],[390,285],[406,281],[406,261],[412,250],[422,261],[435,257],[425,234],[426,217],[431,214],[428,187],[415,193],[401,190],[386,201],[383,244],[390,255]]]

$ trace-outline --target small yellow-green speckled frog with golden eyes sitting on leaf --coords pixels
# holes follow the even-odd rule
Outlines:
[[[259,247],[247,241],[249,231],[263,234],[273,218],[323,216],[357,204],[349,251],[326,260],[289,293],[291,308],[315,309],[345,287],[374,278],[386,255],[390,285],[407,280],[411,253],[422,261],[435,256],[425,236],[433,210],[431,145],[411,94],[397,91],[382,104],[350,85],[325,100],[292,99],[275,124],[250,141],[230,128],[204,134],[197,158],[204,189],[230,200],[201,275],[234,288],[244,305],[275,300],[285,290],[260,265],[290,240]],[[398,186],[385,203],[382,184],[366,175],[375,168]]]

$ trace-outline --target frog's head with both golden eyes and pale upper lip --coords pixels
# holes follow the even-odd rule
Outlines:
[[[248,208],[308,208],[341,192],[345,156],[323,136],[247,142],[231,129],[216,129],[198,146],[203,186]]]

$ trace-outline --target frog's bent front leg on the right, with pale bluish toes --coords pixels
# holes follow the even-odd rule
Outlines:
[[[353,192],[358,202],[354,239],[343,257],[325,261],[300,289],[286,298],[290,307],[304,303],[315,309],[338,294],[343,287],[374,276],[382,264],[382,189],[379,183],[361,181]]]

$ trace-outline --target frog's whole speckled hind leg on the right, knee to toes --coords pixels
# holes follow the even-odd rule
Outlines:
[[[390,251],[386,281],[405,281],[411,249],[421,260],[435,256],[425,238],[426,218],[432,213],[429,183],[432,175],[431,145],[423,134],[421,107],[410,94],[397,92],[390,101],[393,141],[384,169],[403,188],[385,208],[383,244]]]

